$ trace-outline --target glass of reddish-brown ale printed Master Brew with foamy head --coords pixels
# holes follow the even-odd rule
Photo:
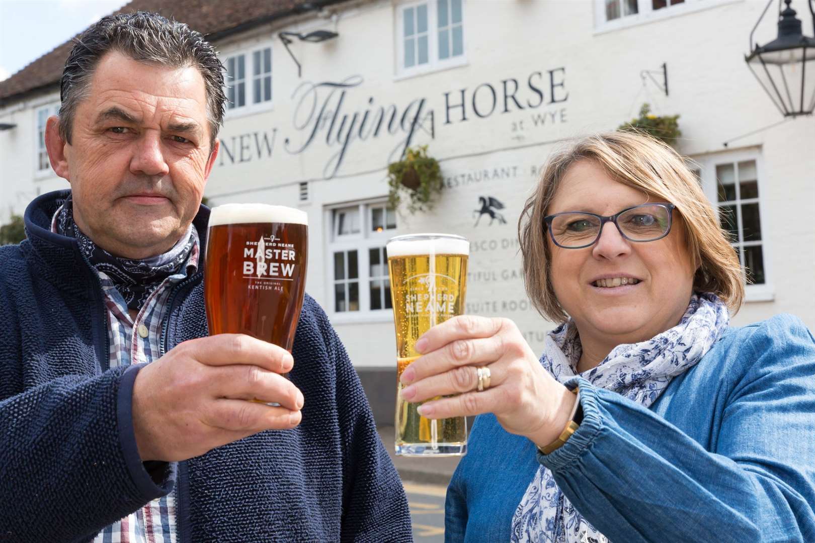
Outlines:
[[[266,204],[212,209],[204,294],[209,334],[247,334],[291,352],[306,291],[308,216]]]

